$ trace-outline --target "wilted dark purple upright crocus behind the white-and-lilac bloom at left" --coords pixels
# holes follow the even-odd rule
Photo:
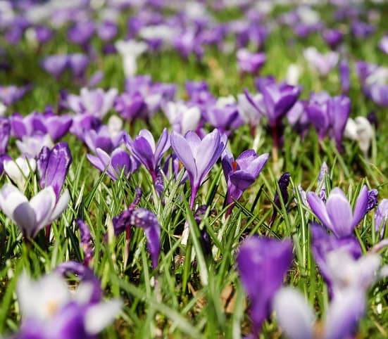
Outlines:
[[[37,167],[39,171],[39,185],[41,188],[52,186],[56,199],[61,195],[66,174],[73,158],[68,143],[57,143],[51,150],[44,146],[39,153]]]

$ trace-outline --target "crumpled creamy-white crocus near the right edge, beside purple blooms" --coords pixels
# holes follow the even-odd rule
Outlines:
[[[345,136],[351,140],[358,141],[358,146],[360,146],[365,158],[368,157],[370,142],[374,135],[375,132],[372,125],[365,117],[356,117],[355,120],[349,117],[346,122]]]

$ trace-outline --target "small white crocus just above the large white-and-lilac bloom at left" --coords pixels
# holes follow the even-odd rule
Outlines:
[[[23,191],[27,178],[31,172],[35,172],[36,168],[37,162],[34,158],[19,157],[16,160],[4,161],[4,172]]]

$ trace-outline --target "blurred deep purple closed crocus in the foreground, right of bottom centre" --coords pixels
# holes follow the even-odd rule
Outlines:
[[[248,238],[239,248],[237,265],[242,285],[251,300],[254,335],[270,315],[271,302],[282,286],[284,274],[292,262],[292,243],[270,238]]]

